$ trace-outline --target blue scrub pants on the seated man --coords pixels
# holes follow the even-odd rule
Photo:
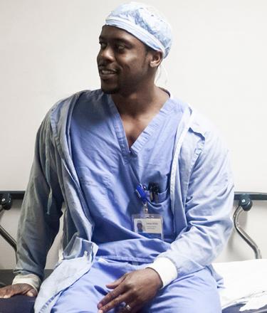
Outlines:
[[[144,265],[98,258],[90,271],[64,290],[51,313],[97,313],[97,304],[109,292],[105,284],[126,272],[140,270]],[[149,288],[149,285],[147,286]],[[109,312],[115,313],[118,309]],[[204,269],[179,277],[147,303],[142,313],[220,313],[221,304],[216,281]]]

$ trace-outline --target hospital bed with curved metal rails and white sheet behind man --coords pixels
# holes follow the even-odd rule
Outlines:
[[[23,196],[23,191],[0,191],[0,214],[11,208],[13,199],[22,200]],[[258,246],[239,223],[241,214],[251,210],[252,201],[267,201],[267,193],[236,192],[234,199],[238,203],[234,212],[234,226],[241,238],[253,249],[255,260],[213,264],[216,272],[224,277],[225,288],[220,292],[222,313],[267,313],[267,259],[261,258]],[[1,225],[0,235],[16,251],[16,240]],[[46,270],[45,276],[50,273],[51,270]],[[10,284],[12,279],[11,270],[0,270],[0,287]],[[0,299],[0,313],[33,312],[34,301],[34,297],[22,295]]]

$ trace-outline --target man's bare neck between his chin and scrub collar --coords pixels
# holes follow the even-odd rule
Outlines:
[[[121,116],[138,118],[141,115],[154,115],[161,109],[169,95],[161,88],[153,85],[146,90],[139,90],[129,95],[112,95]]]

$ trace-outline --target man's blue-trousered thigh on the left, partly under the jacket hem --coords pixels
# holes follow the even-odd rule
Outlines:
[[[95,260],[89,272],[62,292],[51,313],[98,312],[98,302],[110,291],[105,285],[129,272],[130,267],[126,262]]]

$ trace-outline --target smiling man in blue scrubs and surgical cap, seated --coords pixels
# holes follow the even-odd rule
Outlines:
[[[221,312],[210,264],[231,231],[227,149],[155,85],[172,41],[155,10],[122,4],[99,39],[101,90],[58,102],[38,130],[17,276],[0,295],[36,295],[64,201],[63,260],[35,312]]]

